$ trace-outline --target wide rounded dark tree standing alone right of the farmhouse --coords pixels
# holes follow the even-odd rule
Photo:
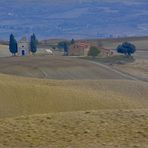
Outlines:
[[[131,54],[135,53],[136,47],[134,44],[131,44],[129,42],[124,42],[121,45],[117,47],[118,53],[123,53],[125,55],[131,56]]]

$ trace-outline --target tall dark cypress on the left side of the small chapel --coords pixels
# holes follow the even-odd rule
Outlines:
[[[17,41],[13,34],[10,35],[10,41],[9,41],[9,51],[12,53],[12,55],[16,55],[18,52],[18,45]]]

